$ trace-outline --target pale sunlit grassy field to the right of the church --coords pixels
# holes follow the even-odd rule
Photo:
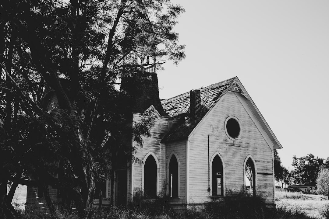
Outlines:
[[[307,195],[299,192],[275,192],[277,207],[303,210],[308,216],[323,218],[321,212],[329,200],[323,195]]]

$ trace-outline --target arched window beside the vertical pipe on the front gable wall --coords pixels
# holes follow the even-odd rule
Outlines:
[[[218,155],[213,159],[211,171],[213,196],[223,195],[223,164]]]

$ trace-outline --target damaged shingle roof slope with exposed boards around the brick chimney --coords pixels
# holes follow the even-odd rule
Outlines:
[[[169,116],[178,118],[177,123],[162,141],[172,142],[187,139],[195,126],[214,106],[224,91],[229,88],[234,79],[235,77],[198,89],[201,96],[201,109],[196,118],[190,118],[190,92],[162,100],[162,106]]]

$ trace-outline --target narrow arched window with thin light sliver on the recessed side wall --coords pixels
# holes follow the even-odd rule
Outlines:
[[[169,162],[169,197],[178,197],[178,162],[174,155]]]

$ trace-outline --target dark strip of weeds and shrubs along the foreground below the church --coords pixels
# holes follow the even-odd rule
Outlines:
[[[251,201],[258,202],[257,199],[245,199],[230,201],[230,204],[220,202],[207,203],[206,207],[191,208],[182,213],[174,213],[171,215],[165,212],[159,215],[151,216],[151,212],[140,212],[139,209],[126,208],[107,208],[98,213],[92,212],[89,219],[318,219],[317,217],[308,216],[302,209],[288,209],[286,207],[263,208],[261,205],[253,204]],[[87,219],[80,218],[77,214],[61,214],[56,215],[41,214],[37,212],[21,213],[21,219]]]

